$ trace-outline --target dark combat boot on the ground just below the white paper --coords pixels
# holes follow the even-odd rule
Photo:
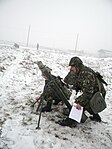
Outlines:
[[[69,127],[76,127],[76,125],[77,125],[77,122],[75,120],[68,118],[68,117],[66,119],[59,120],[56,123],[61,126],[69,126]]]

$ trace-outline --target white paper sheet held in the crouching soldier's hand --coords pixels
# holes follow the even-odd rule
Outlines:
[[[71,109],[70,114],[69,114],[69,118],[80,123],[81,118],[82,118],[82,113],[83,113],[83,107],[81,107],[81,109],[78,110],[78,109],[76,109],[75,105],[76,104],[74,103],[74,105],[72,106],[72,109]]]

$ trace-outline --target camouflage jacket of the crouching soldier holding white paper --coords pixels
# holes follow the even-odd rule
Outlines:
[[[73,80],[74,89],[79,89],[82,91],[82,95],[76,98],[75,102],[79,103],[84,108],[89,108],[89,101],[95,92],[99,91],[97,78],[95,72],[84,65],[80,68],[79,72],[74,77]],[[101,84],[101,92],[105,98],[106,91],[103,84]]]

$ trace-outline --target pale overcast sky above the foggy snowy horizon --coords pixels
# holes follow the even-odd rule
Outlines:
[[[0,40],[112,50],[112,0],[0,0]]]

